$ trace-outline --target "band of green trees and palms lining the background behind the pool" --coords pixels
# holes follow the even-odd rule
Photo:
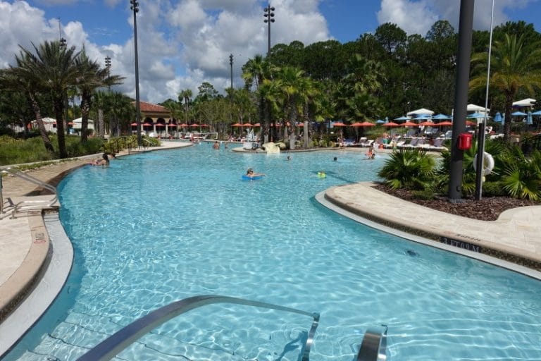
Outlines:
[[[475,104],[485,103],[489,36],[487,31],[473,32],[468,98]],[[177,99],[166,99],[161,105],[173,118],[210,124],[220,134],[228,133],[232,123],[261,123],[266,140],[287,139],[301,133],[301,124],[310,129],[312,121],[374,121],[419,107],[449,114],[454,103],[457,37],[447,20],[438,20],[426,35],[406,35],[399,26],[385,23],[373,34],[344,44],[336,40],[307,46],[299,41],[275,44],[268,56],[255,55],[244,63],[243,87],[220,94],[203,82],[197,94],[182,90]],[[504,134],[509,137],[512,102],[537,99],[540,92],[541,34],[533,25],[518,21],[499,25],[493,37],[489,108],[504,110]],[[65,120],[71,92],[80,99],[70,111],[82,116],[82,142],[91,111],[98,118],[99,135],[105,127],[113,135],[130,130],[135,115],[132,99],[104,90],[122,78],[88,59],[84,49],[44,42],[32,50],[21,48],[15,66],[0,71],[1,122],[35,118],[52,152],[40,122],[46,109],[58,120],[59,155],[65,157],[61,119]],[[286,126],[273,126],[278,122]],[[306,147],[311,131],[302,133]]]

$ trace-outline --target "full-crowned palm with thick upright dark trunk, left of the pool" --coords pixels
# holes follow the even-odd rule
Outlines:
[[[64,99],[68,88],[75,85],[78,70],[75,66],[75,58],[79,52],[75,47],[61,47],[60,42],[44,42],[34,47],[35,54],[22,49],[21,56],[25,60],[23,66],[27,73],[33,75],[33,81],[40,88],[50,90],[53,99],[54,113],[56,116],[56,133],[58,135],[58,155],[60,158],[68,157],[66,151],[66,134],[64,130]]]

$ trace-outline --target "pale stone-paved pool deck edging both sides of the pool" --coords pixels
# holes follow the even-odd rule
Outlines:
[[[161,147],[151,147],[150,150],[189,145],[192,144],[162,141]],[[347,149],[346,152],[350,150],[364,151]],[[118,154],[119,157],[123,155],[127,153]],[[58,162],[29,173],[56,186],[67,173],[87,164],[88,158],[96,157]],[[372,185],[355,183],[332,187],[316,199],[335,212],[368,226],[541,279],[541,206],[510,209],[497,221],[478,221],[400,200],[375,190]],[[38,195],[41,188],[15,177],[4,177],[2,190],[4,200],[9,197],[14,202],[46,197]],[[2,329],[10,329],[2,326],[11,322],[12,311],[21,300],[30,298],[45,269],[54,265],[49,236],[55,238],[46,227],[45,219],[51,214],[42,216],[42,212],[32,212],[18,214],[11,219],[11,207],[7,202],[4,204],[6,207],[0,214],[0,336]],[[52,212],[56,214],[55,209]],[[11,344],[6,345],[0,337],[0,355],[10,347]]]

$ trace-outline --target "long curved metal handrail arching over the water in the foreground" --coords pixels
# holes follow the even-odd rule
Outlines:
[[[109,336],[104,341],[101,341],[94,348],[89,350],[85,355],[82,355],[79,361],[96,361],[96,360],[111,360],[118,355],[122,350],[129,345],[137,341],[145,334],[160,326],[161,324],[168,322],[170,319],[177,317],[180,314],[194,310],[195,308],[205,305],[211,305],[214,303],[233,303],[237,305],[254,306],[268,308],[270,310],[278,310],[285,312],[293,312],[296,314],[304,314],[312,317],[313,322],[309,332],[309,336],[306,339],[304,345],[304,351],[302,355],[302,361],[309,361],[310,348],[313,343],[313,335],[316,333],[316,329],[319,324],[319,314],[309,313],[302,310],[296,310],[290,307],[283,307],[279,305],[273,305],[272,303],[258,302],[252,300],[244,300],[242,298],[228,297],[222,295],[199,295],[184,300],[172,302],[169,305],[163,306],[154,310],[140,319],[135,320],[128,326],[125,326],[120,331]]]

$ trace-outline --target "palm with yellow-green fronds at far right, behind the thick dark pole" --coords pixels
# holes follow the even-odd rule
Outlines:
[[[521,88],[533,93],[541,84],[541,44],[527,44],[524,35],[506,34],[502,41],[495,42],[490,59],[490,85],[502,92],[505,98],[504,140],[511,135],[511,110],[513,100]],[[487,82],[487,53],[474,54],[473,72],[477,75],[470,80],[470,89],[479,90]]]

